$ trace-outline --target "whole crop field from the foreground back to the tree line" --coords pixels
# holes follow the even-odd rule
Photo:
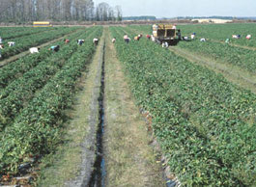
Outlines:
[[[128,184],[131,173],[134,180],[130,180],[130,184],[139,183],[139,186],[150,185],[150,182],[156,182],[157,186],[165,185],[161,183],[255,185],[255,90],[244,89],[236,81],[226,79],[225,72],[216,73],[183,56],[189,52],[197,58],[209,58],[236,67],[241,73],[247,72],[248,76],[253,75],[256,72],[255,24],[177,27],[182,29],[183,35],[195,32],[196,40],[180,41],[169,49],[162,48],[145,38],[152,33],[150,26],[12,28],[10,32],[0,28],[1,36],[23,43],[14,49],[4,49],[2,54],[7,60],[31,46],[67,34],[71,40],[70,43],[56,40],[38,54],[26,55],[0,67],[0,185],[14,183],[12,178],[16,176],[32,174],[31,166],[37,168],[41,161],[45,162],[45,158],[54,154],[61,154],[58,156],[64,162],[72,163],[65,157],[65,150],[59,153],[59,147],[71,142],[67,138],[69,133],[74,137],[82,136],[80,142],[71,142],[69,147],[82,148],[74,150],[81,157],[77,162],[82,169],[58,169],[54,163],[59,161],[52,161],[53,164],[46,161],[43,177],[35,177],[41,185],[65,186],[68,182],[71,186],[79,183],[79,179],[85,186],[92,185],[95,182],[92,178],[102,177],[93,172],[98,170],[95,168],[99,155],[105,157],[104,177],[111,178],[106,179],[106,186]],[[227,36],[237,33],[242,37],[249,33],[253,38],[231,40],[238,46],[222,43]],[[143,38],[126,43],[124,34],[131,39],[143,34]],[[95,38],[100,39],[98,46],[93,43]],[[111,42],[112,38],[116,38],[115,43]],[[200,38],[208,40],[200,42]],[[79,46],[78,39],[85,42]],[[59,44],[60,51],[47,50],[52,44]],[[173,52],[176,49],[184,53]],[[248,78],[253,79],[253,76]],[[78,103],[78,107],[74,103]],[[75,118],[67,116],[67,111]],[[143,111],[143,115],[139,111]],[[77,118],[82,119],[79,128],[73,124]],[[139,118],[142,121],[137,120]],[[101,120],[106,120],[106,126],[101,127],[106,128],[102,130],[106,134],[101,135],[103,144],[95,142],[99,140],[97,123]],[[127,125],[129,128],[125,128]],[[67,128],[71,128],[69,132]],[[141,131],[147,130],[153,138],[145,138],[147,133]],[[132,133],[143,134],[143,140]],[[112,140],[114,138],[116,140]],[[157,154],[164,157],[164,163],[156,158],[154,146],[149,143],[155,139],[160,147]],[[82,143],[83,140],[86,143]],[[64,149],[68,151],[69,148]],[[90,157],[97,158],[90,160]],[[93,163],[89,164],[91,168],[83,159]],[[128,165],[133,166],[133,172]],[[163,182],[158,178],[162,175],[158,168],[162,166],[167,178]],[[72,173],[71,177],[66,173]],[[60,179],[50,180],[55,174]],[[72,180],[73,174],[78,175],[75,180]],[[147,174],[156,175],[156,181]],[[30,185],[37,185],[37,181]]]

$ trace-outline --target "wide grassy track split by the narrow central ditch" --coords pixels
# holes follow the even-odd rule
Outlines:
[[[43,167],[38,185],[100,186],[99,181],[104,178],[103,186],[165,186],[161,165],[156,163],[156,152],[151,146],[153,138],[129,93],[107,27],[88,69],[81,78],[82,90],[70,111],[71,121],[64,137],[67,144],[59,148],[51,162],[45,160],[50,167]],[[100,93],[104,94],[104,117],[99,112]],[[105,121],[103,151],[99,151],[98,129],[102,118]],[[95,171],[99,172],[94,170],[99,166],[96,165],[99,155],[104,157],[106,166],[106,173],[100,179],[94,175]],[[94,178],[98,181],[92,182]]]

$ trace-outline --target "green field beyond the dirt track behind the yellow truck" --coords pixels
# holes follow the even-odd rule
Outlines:
[[[151,33],[150,26],[131,26],[131,29],[141,30],[145,33]],[[256,53],[255,38],[246,40],[247,34],[256,36],[255,24],[226,24],[226,25],[179,25],[182,30],[182,36],[190,36],[196,33],[196,40],[193,42],[183,41],[178,43],[178,47],[194,52],[197,55],[211,57],[214,60],[228,63],[232,66],[241,67],[255,74],[256,72]],[[234,34],[241,34],[242,39],[231,39]],[[201,42],[199,39],[205,38],[207,42]],[[230,39],[230,44],[225,43],[226,39]],[[219,40],[222,42],[215,42]],[[232,45],[233,43],[236,46]],[[248,46],[248,48],[242,47]]]

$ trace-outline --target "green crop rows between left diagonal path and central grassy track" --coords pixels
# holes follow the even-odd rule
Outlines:
[[[60,33],[71,30],[75,29],[60,28]],[[100,37],[101,30],[79,29],[71,34],[70,43],[54,43],[61,45],[58,53],[46,47],[0,69],[1,175],[17,174],[21,163],[49,153],[60,143],[62,114],[71,105],[77,78],[95,50],[92,40]],[[78,39],[87,44],[78,46]]]

